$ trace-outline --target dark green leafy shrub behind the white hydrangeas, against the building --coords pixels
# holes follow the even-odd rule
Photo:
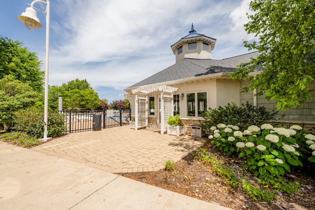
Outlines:
[[[202,116],[205,120],[200,121],[200,124],[205,130],[209,130],[211,126],[219,123],[237,125],[245,130],[252,124],[263,124],[275,120],[277,113],[270,113],[265,107],[255,107],[248,101],[241,107],[228,103],[224,108],[221,106],[218,109],[209,108]]]

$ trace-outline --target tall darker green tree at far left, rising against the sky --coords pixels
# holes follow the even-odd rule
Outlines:
[[[44,72],[37,54],[23,47],[23,43],[0,36],[0,79],[12,75],[13,79],[28,82],[36,92],[43,90]]]

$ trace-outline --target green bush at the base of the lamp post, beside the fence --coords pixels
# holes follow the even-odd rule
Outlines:
[[[13,130],[23,131],[26,134],[43,138],[44,133],[44,111],[39,108],[28,108],[15,113]],[[61,136],[66,128],[64,126],[63,115],[58,112],[49,112],[48,115],[48,136]]]

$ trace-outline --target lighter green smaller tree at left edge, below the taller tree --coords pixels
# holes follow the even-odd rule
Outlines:
[[[0,79],[0,123],[6,131],[14,121],[14,112],[26,109],[38,100],[38,93],[12,75]]]

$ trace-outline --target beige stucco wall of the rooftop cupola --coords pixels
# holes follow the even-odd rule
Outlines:
[[[193,41],[192,41],[193,42]],[[183,53],[177,55],[176,49],[176,62],[183,60],[184,58],[188,59],[211,59],[211,45],[209,44],[209,51],[202,50],[202,41],[198,40],[196,50],[188,50],[188,43],[183,43]]]

